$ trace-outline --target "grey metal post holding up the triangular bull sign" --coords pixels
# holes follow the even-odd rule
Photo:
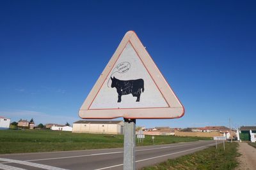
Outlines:
[[[135,170],[136,119],[124,118],[124,170]]]

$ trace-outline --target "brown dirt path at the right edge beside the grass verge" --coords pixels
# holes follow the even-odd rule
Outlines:
[[[248,145],[248,143],[239,143],[238,152],[241,157],[238,157],[240,162],[236,170],[255,170],[256,169],[256,148]]]

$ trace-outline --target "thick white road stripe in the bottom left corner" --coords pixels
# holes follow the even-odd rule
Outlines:
[[[27,162],[27,161],[23,161],[23,160],[4,159],[4,158],[0,158],[0,160],[4,161],[4,162],[11,162],[11,163],[22,164],[22,165],[26,165],[26,166],[39,167],[39,168],[48,169],[48,170],[67,170],[67,169],[63,169],[60,167],[46,166],[43,164],[36,164],[36,163]]]

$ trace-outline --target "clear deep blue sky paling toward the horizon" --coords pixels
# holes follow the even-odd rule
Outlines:
[[[137,125],[256,125],[255,9],[255,1],[0,1],[0,116],[79,120],[133,30],[186,109]]]

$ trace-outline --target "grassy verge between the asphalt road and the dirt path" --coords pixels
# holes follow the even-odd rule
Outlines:
[[[145,167],[143,170],[179,170],[179,169],[234,169],[238,162],[236,157],[240,154],[237,152],[238,143],[225,143],[225,151],[223,145],[210,146],[205,150],[191,153],[177,159],[169,159],[166,162],[157,164],[156,166]]]

